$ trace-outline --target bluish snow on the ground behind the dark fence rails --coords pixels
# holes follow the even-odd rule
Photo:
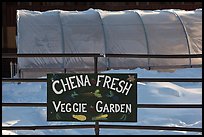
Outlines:
[[[103,72],[102,72],[103,73]],[[201,78],[202,68],[177,69],[175,72],[134,70],[109,70],[105,73],[137,73],[140,78]],[[3,103],[46,103],[46,82],[2,83]],[[138,82],[139,104],[202,104],[202,82]],[[94,122],[47,122],[44,107],[3,107],[2,126],[37,125],[80,125]],[[170,127],[202,128],[201,108],[138,108],[138,122],[100,122],[111,125],[152,125]],[[3,130],[3,135],[94,135],[93,128],[62,130]],[[136,130],[136,129],[100,129],[101,135],[198,135],[199,132]]]

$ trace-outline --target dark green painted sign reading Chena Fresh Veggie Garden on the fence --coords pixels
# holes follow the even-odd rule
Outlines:
[[[136,74],[48,74],[47,120],[136,122]]]

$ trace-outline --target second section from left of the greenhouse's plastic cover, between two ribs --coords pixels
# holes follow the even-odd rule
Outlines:
[[[64,53],[98,53],[105,54],[104,35],[98,12],[88,10],[61,11],[60,13]],[[69,69],[94,68],[94,59],[72,57],[65,58],[64,67]],[[105,59],[99,58],[99,68],[105,69]]]

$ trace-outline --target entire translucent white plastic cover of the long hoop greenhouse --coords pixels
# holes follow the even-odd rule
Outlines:
[[[17,11],[18,53],[202,54],[202,9]],[[18,58],[19,69],[93,71],[93,58]],[[191,66],[201,58],[99,58],[99,70]]]

